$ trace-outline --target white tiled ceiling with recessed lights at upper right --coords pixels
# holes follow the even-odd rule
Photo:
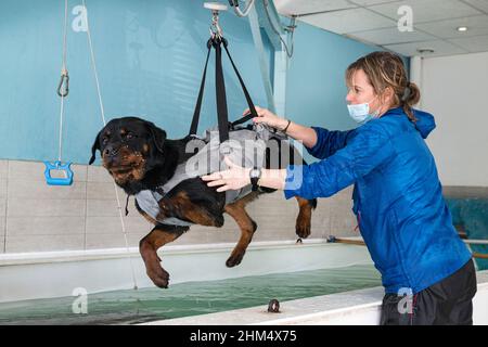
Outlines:
[[[488,0],[274,0],[280,14],[407,56],[488,52]],[[408,5],[413,31],[400,31]],[[466,31],[459,31],[461,26]],[[433,50],[426,52],[422,50]],[[421,52],[419,52],[421,50]]]

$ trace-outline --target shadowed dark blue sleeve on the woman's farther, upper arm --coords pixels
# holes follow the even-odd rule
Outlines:
[[[324,128],[311,127],[317,133],[317,143],[311,149],[307,149],[310,155],[318,159],[324,159],[333,155],[338,150],[346,146],[347,141],[350,140],[354,130],[348,131],[330,131]]]

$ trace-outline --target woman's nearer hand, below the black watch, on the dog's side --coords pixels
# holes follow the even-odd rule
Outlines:
[[[227,156],[223,160],[229,169],[202,176],[202,180],[208,181],[208,187],[221,185],[217,189],[217,192],[224,192],[228,190],[237,190],[251,184],[251,168],[241,167],[232,163]]]

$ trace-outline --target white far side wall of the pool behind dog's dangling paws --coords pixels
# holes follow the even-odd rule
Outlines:
[[[180,245],[160,249],[170,285],[246,275],[295,272],[352,265],[371,265],[365,247],[328,244],[323,240],[255,242],[235,268],[227,268],[233,244]],[[154,287],[137,248],[86,252],[43,252],[0,256],[0,303],[133,288]],[[164,290],[162,290],[164,291]]]

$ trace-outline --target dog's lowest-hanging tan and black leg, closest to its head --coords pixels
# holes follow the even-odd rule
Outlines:
[[[139,243],[139,252],[144,260],[146,273],[153,283],[160,288],[168,287],[169,273],[160,266],[157,249],[178,239],[188,229],[189,227],[157,224]]]

